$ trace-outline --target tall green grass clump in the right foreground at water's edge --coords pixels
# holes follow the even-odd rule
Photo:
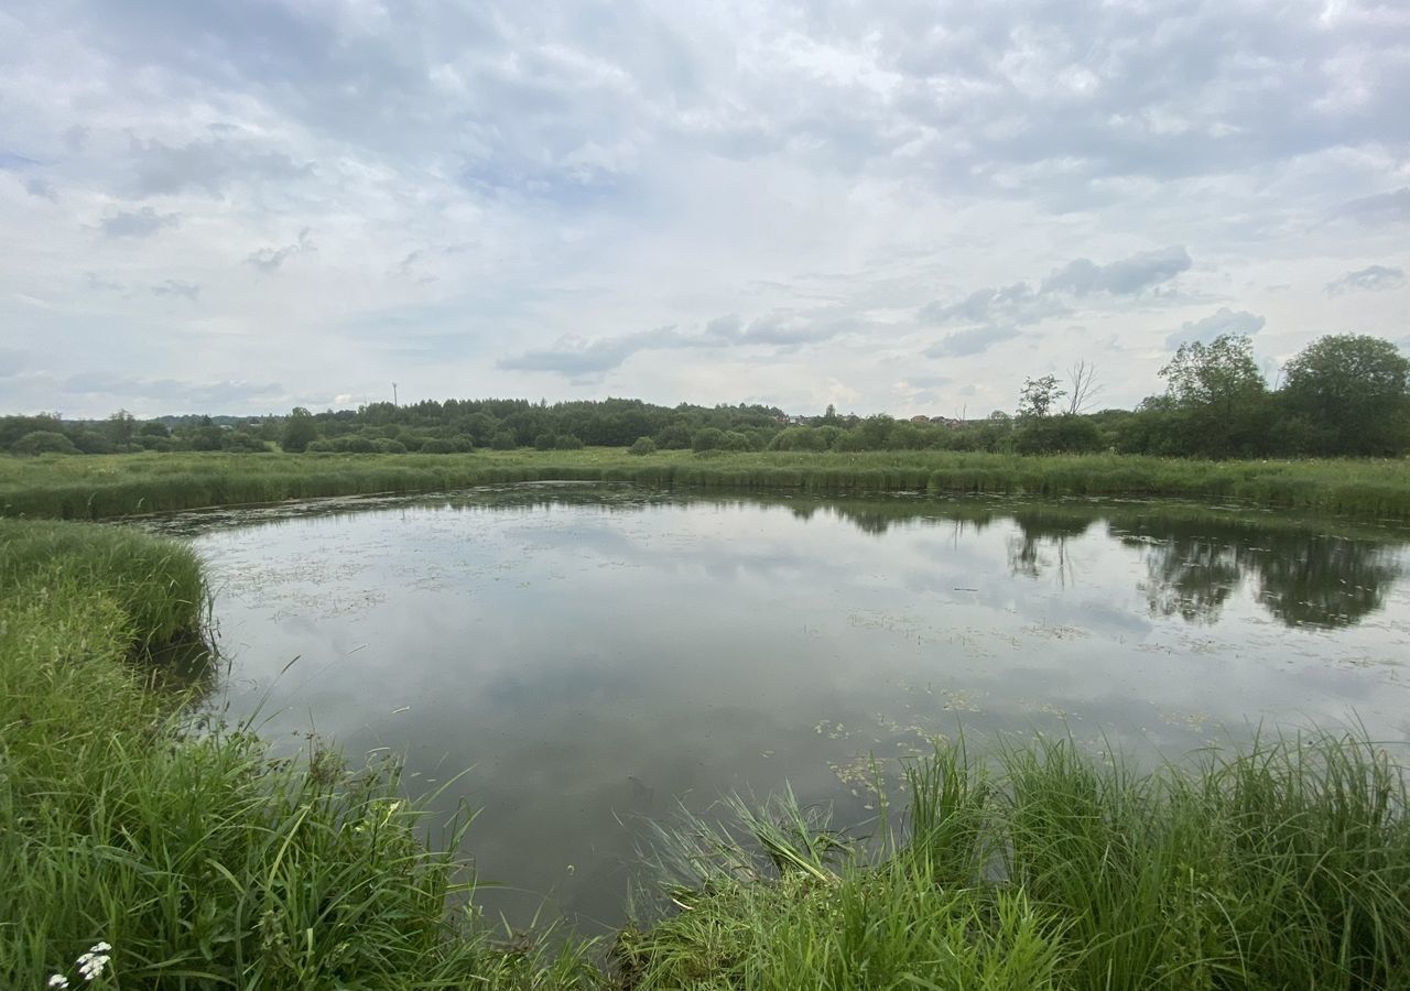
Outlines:
[[[816,822],[787,796],[667,833],[678,911],[622,933],[626,984],[1410,987],[1404,775],[1365,739],[1144,774],[1036,740],[991,768],[938,751],[908,784],[907,827],[836,861],[774,854]]]

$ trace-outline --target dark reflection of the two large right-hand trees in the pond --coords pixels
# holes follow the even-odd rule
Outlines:
[[[1214,623],[1246,577],[1256,601],[1287,626],[1337,627],[1380,609],[1400,578],[1394,547],[1246,524],[1139,520],[1124,543],[1146,561],[1153,616]]]

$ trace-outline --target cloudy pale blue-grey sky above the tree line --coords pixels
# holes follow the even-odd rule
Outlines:
[[[1410,348],[1410,4],[0,8],[0,413],[986,416]]]

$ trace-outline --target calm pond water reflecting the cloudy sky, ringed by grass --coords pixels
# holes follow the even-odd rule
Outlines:
[[[1262,725],[1410,737],[1404,530],[1169,503],[520,486],[196,513],[233,718],[477,809],[482,901],[620,921],[643,818],[962,729],[1179,754]],[[293,661],[293,658],[298,658]],[[290,661],[293,661],[292,667]],[[288,667],[288,671],[285,668]]]

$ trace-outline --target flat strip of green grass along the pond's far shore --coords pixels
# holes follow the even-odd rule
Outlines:
[[[1407,461],[1176,461],[956,453],[701,457],[619,448],[389,454],[0,457],[0,515],[109,519],[317,496],[443,492],[530,481],[680,489],[986,492],[1235,499],[1362,519],[1410,519]]]

